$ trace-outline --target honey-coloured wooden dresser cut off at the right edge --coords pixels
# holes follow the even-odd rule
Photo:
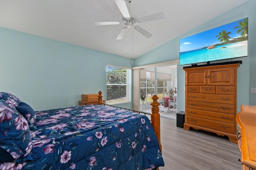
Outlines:
[[[242,170],[256,170],[256,106],[242,105],[236,115]]]

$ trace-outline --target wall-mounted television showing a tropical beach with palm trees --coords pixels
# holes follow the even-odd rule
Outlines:
[[[248,56],[248,18],[180,39],[180,65]]]

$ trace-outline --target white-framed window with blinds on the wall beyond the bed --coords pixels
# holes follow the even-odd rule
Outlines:
[[[106,66],[107,103],[131,102],[131,69]]]

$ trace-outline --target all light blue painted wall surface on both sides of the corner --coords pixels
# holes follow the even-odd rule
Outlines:
[[[0,91],[10,92],[36,111],[77,106],[81,94],[106,91],[106,64],[141,66],[179,59],[179,39],[248,17],[248,57],[239,58],[238,99],[256,105],[256,1],[248,2],[198,26],[134,60],[0,27]],[[86,40],[85,40],[86,41]],[[185,75],[178,66],[178,111],[185,108]],[[106,96],[106,94],[103,94]],[[132,108],[132,103],[120,105]]]

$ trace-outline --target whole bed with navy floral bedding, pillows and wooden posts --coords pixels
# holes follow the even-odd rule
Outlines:
[[[1,170],[151,170],[164,166],[160,115],[97,105],[36,111],[0,92]],[[155,133],[156,132],[156,133]]]

